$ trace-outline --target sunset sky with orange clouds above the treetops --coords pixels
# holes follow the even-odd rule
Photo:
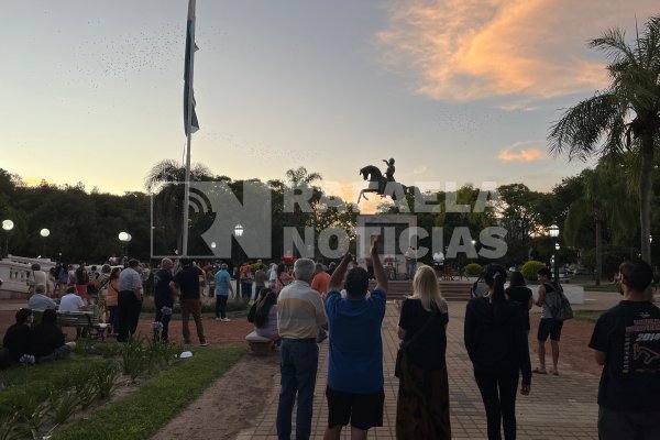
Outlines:
[[[144,190],[183,162],[187,0],[1,0],[0,168],[28,184]],[[365,165],[406,185],[550,190],[562,109],[607,86],[587,41],[651,0],[198,0],[193,163],[233,179]],[[342,194],[344,197],[352,197]],[[355,201],[355,200],[352,200]]]

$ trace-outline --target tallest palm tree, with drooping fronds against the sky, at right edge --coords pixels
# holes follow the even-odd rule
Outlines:
[[[650,263],[651,172],[660,138],[660,16],[646,23],[632,45],[625,42],[623,30],[610,29],[590,46],[610,58],[612,82],[564,112],[548,136],[549,150],[554,155],[568,152],[569,160],[586,160],[620,154],[638,144],[641,257]]]

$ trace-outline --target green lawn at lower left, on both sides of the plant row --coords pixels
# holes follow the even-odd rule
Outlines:
[[[111,349],[117,343],[102,344]],[[111,403],[96,400],[82,418],[56,429],[52,439],[148,439],[231,369],[245,349],[207,346],[193,353],[193,358],[176,360],[153,376],[141,376],[139,388],[123,397]],[[66,383],[80,375],[81,369],[99,367],[103,362],[108,360],[99,355],[73,353],[61,361],[3,370],[0,418],[13,413],[10,408],[15,405],[15,393],[22,393],[25,386],[30,395],[46,400],[50,386]],[[128,377],[120,377],[120,385],[125,381]]]

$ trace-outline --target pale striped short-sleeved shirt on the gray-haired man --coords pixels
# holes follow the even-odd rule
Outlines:
[[[277,329],[282,338],[316,338],[327,321],[321,296],[309,283],[296,279],[277,296]]]

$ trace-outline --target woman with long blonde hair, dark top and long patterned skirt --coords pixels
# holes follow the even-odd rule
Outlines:
[[[438,277],[422,265],[413,279],[413,296],[402,304],[398,337],[400,363],[396,438],[451,439],[447,377],[447,301]]]

